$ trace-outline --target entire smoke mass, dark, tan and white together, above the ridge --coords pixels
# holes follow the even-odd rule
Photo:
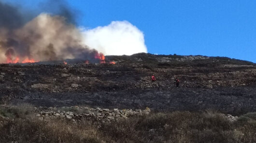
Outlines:
[[[81,30],[65,4],[57,0],[57,5],[62,16],[41,13],[26,22],[26,13],[0,2],[0,63],[93,60],[98,51],[108,55],[146,52],[142,32],[127,21]]]

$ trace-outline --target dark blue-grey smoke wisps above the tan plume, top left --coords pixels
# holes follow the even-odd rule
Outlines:
[[[33,1],[31,0],[31,2]],[[0,27],[9,30],[19,28],[42,12],[63,16],[66,18],[66,22],[76,24],[76,19],[81,14],[78,10],[72,9],[66,0],[45,0],[38,4],[36,10],[38,14],[31,13],[35,11],[32,9],[24,12],[20,5],[22,3],[13,6],[0,1]]]

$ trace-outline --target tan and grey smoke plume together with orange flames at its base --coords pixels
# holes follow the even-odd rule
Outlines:
[[[0,22],[0,63],[67,59],[106,63],[103,53],[85,45],[82,32],[70,23],[69,17],[42,13],[23,24],[24,17],[14,7],[0,3],[0,9],[11,11],[0,15],[7,19],[0,18],[5,20]],[[14,21],[16,25],[12,26]]]

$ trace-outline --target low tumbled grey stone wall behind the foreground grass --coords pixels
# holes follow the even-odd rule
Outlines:
[[[64,111],[65,110],[65,111]],[[40,119],[63,118],[72,121],[82,119],[95,119],[100,122],[111,122],[119,119],[127,119],[131,116],[143,116],[150,113],[150,108],[141,109],[101,109],[89,107],[39,107],[35,110],[36,116]]]

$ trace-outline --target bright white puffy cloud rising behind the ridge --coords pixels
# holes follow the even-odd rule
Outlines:
[[[85,44],[106,55],[132,55],[147,52],[144,36],[128,21],[114,21],[103,27],[86,30]]]

